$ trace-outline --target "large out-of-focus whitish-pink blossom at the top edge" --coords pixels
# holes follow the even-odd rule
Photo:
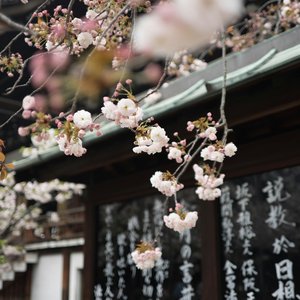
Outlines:
[[[185,0],[160,2],[153,12],[138,20],[134,32],[134,47],[137,51],[157,56],[200,48],[222,26],[240,16],[242,1],[227,2],[191,0],[189,5]]]

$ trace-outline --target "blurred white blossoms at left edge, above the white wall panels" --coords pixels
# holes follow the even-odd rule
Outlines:
[[[85,189],[83,184],[58,179],[16,183],[14,175],[15,172],[10,172],[0,184],[0,276],[26,267],[26,252],[17,237],[28,229],[33,229],[36,235],[41,234],[43,211],[40,206],[53,200],[66,201],[74,195],[81,195]],[[56,212],[49,214],[51,223],[58,220]]]

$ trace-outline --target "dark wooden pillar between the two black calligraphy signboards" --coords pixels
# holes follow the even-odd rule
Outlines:
[[[202,242],[201,300],[221,300],[219,201],[201,201],[200,226]]]

